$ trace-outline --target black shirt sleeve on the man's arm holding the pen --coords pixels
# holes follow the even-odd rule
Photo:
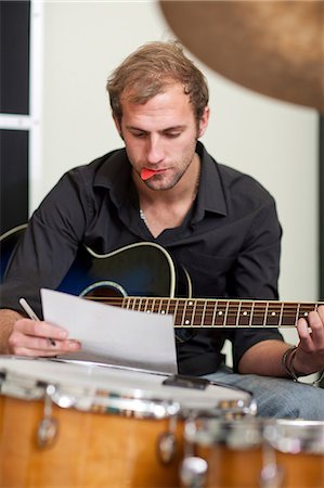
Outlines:
[[[90,218],[81,172],[67,172],[28,222],[0,288],[1,308],[22,311],[25,297],[42,317],[40,288],[56,288],[68,271]],[[82,189],[82,190],[80,190]]]

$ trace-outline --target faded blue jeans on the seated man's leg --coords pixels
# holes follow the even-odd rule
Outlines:
[[[251,393],[257,415],[324,421],[324,389],[291,380],[236,374],[228,367],[204,377]]]

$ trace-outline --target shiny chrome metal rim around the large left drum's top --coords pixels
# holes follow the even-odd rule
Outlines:
[[[5,370],[5,362],[7,360],[13,360],[13,361],[20,361],[20,360],[27,360],[33,361],[37,360],[40,363],[41,362],[55,362],[55,363],[66,363],[66,362],[77,362],[79,361],[66,361],[57,358],[52,358],[50,361],[48,358],[30,358],[30,357],[16,357],[16,356],[3,356],[2,359],[5,359],[3,364],[1,364],[0,361],[0,372],[2,372],[2,383],[5,383],[5,377],[9,375],[10,377],[15,378],[15,388],[12,388],[13,390],[7,390],[5,388],[1,391],[1,395],[11,395],[16,398],[26,399],[26,400],[39,400],[44,398],[46,390],[49,385],[52,386],[51,394],[49,394],[51,400],[53,403],[57,404],[61,408],[75,408],[77,410],[81,411],[95,411],[101,413],[116,413],[119,415],[133,415],[137,418],[154,418],[154,419],[163,419],[163,418],[169,418],[172,415],[179,415],[182,418],[186,418],[190,415],[190,413],[195,410],[196,414],[203,414],[203,412],[208,413],[210,416],[219,416],[226,413],[243,413],[245,414],[250,413],[250,411],[255,412],[255,402],[251,396],[249,396],[246,399],[231,399],[229,404],[229,400],[219,399],[213,408],[194,408],[194,407],[187,407],[184,404],[184,402],[176,401],[171,398],[158,398],[158,395],[156,391],[153,391],[153,389],[148,388],[147,390],[135,388],[135,387],[129,387],[124,388],[124,390],[120,394],[120,390],[118,388],[113,387],[111,390],[103,390],[102,388],[96,388],[95,390],[92,390],[91,395],[87,397],[87,401],[85,402],[85,396],[86,396],[86,386],[82,385],[80,388],[79,395],[74,393],[74,395],[70,395],[70,391],[67,391],[67,386],[64,385],[57,385],[53,381],[47,381],[47,380],[37,380],[33,378],[34,385],[30,386],[29,390],[27,385],[25,384],[25,380],[29,378],[30,375],[26,374],[24,375],[23,372],[14,372],[12,369]],[[122,369],[122,370],[129,370],[129,368],[121,368],[116,365],[108,365],[114,369]],[[168,376],[168,373],[161,373],[161,372],[151,372],[146,370],[138,370],[132,369],[135,371],[145,372],[147,374],[159,374],[161,376]],[[20,383],[22,385],[20,386]],[[38,383],[38,384],[37,384]],[[213,383],[210,382],[212,385]],[[225,386],[225,385],[224,385]],[[239,388],[235,388],[236,390],[241,391]],[[135,395],[135,391],[140,391],[140,395]]]

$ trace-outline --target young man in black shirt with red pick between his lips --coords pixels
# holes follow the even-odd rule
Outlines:
[[[186,270],[195,297],[277,299],[275,203],[198,142],[209,118],[203,74],[177,42],[152,42],[117,67],[107,90],[125,149],[68,171],[31,217],[1,290],[2,354],[80,349],[61,328],[23,318],[18,298],[41,314],[39,290],[57,288],[85,245],[107,254],[154,242],[171,255],[179,278]],[[324,391],[291,381],[324,367],[323,308],[299,319],[298,334],[291,348],[273,328],[184,331],[177,341],[179,371],[250,390],[260,415],[324,420]],[[225,338],[234,372],[220,354]]]

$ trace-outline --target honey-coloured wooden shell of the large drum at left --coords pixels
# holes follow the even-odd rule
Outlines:
[[[157,440],[168,419],[135,419],[53,406],[59,434],[38,447],[43,401],[0,397],[1,487],[173,487],[179,485],[182,425],[176,458],[158,459]]]

